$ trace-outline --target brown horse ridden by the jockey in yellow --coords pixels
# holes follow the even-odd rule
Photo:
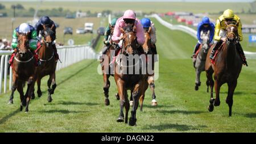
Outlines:
[[[207,61],[205,62],[205,70],[207,72],[207,85],[210,86],[210,105],[208,110],[213,111],[213,105],[220,105],[220,87],[224,83],[228,83],[228,96],[226,103],[229,105],[229,116],[232,116],[233,94],[237,86],[237,78],[242,69],[242,61],[240,54],[236,49],[236,41],[238,38],[236,24],[227,24],[226,27],[226,41],[220,46],[220,52],[216,56],[215,64],[210,61],[210,52],[207,54]],[[212,74],[214,72],[214,80]],[[213,86],[215,87],[216,99],[213,99]]]

